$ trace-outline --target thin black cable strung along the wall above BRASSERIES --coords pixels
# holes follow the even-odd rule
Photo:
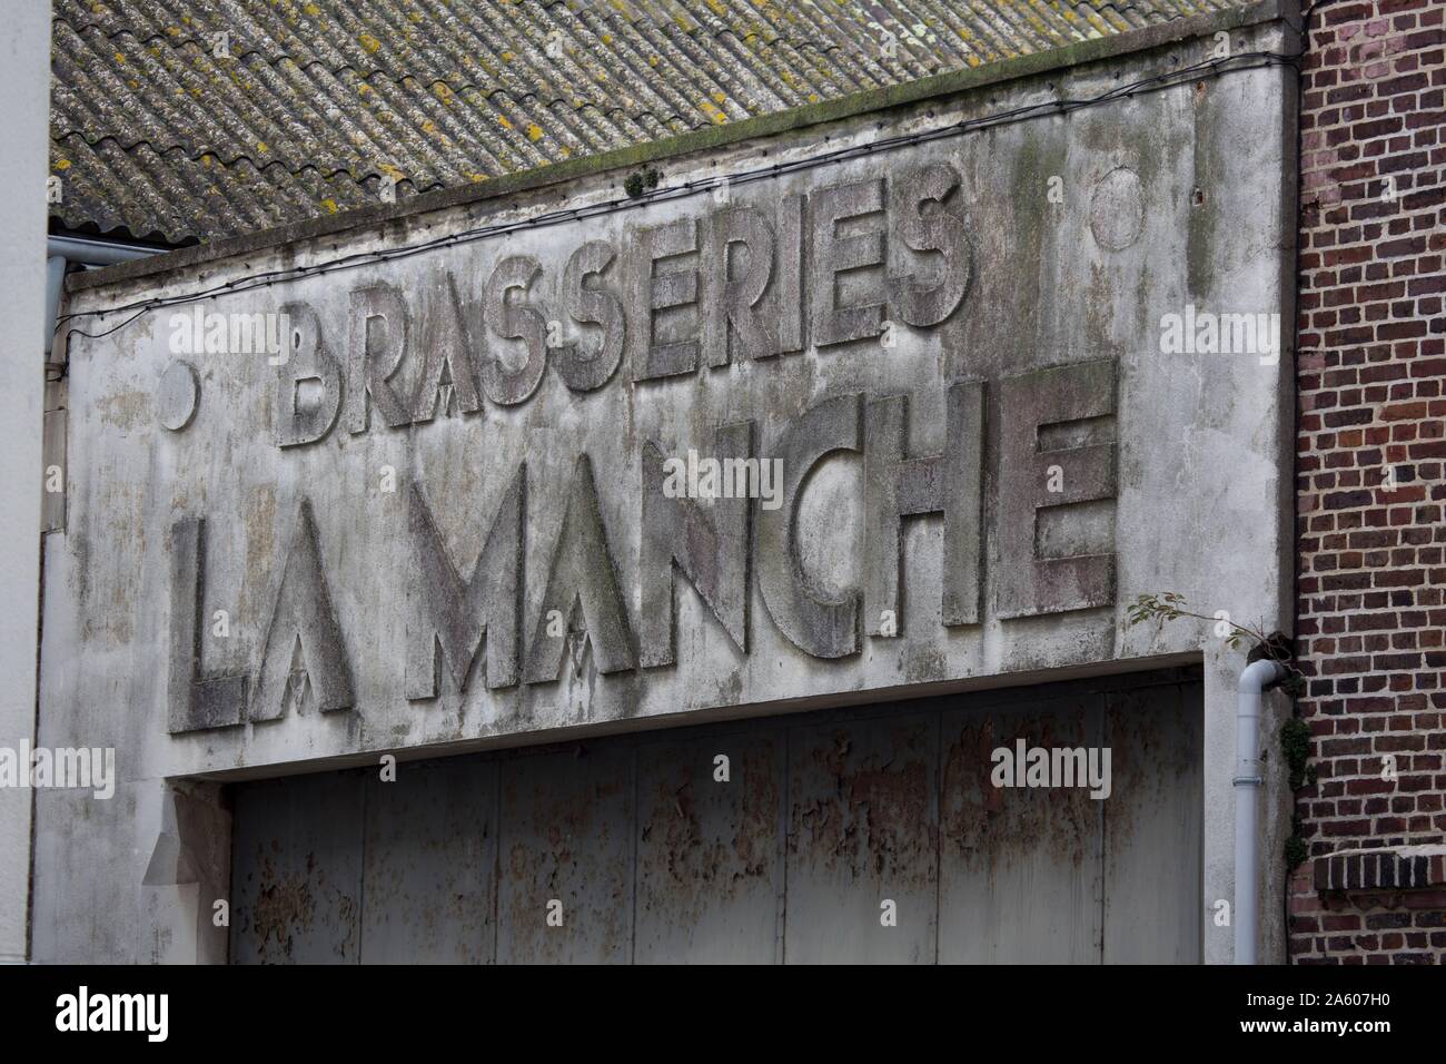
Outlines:
[[[931,143],[934,140],[963,136],[964,133],[972,133],[980,129],[992,129],[995,126],[1011,124],[1014,122],[1021,122],[1027,117],[1034,117],[1043,113],[1067,114],[1070,111],[1080,110],[1084,107],[1096,107],[1103,103],[1112,103],[1122,97],[1131,97],[1138,91],[1173,87],[1176,84],[1190,81],[1196,74],[1202,74],[1205,71],[1210,71],[1213,75],[1219,77],[1222,74],[1222,68],[1226,68],[1229,71],[1245,71],[1245,69],[1261,69],[1264,67],[1294,67],[1299,58],[1300,58],[1299,52],[1296,55],[1283,55],[1280,52],[1241,52],[1239,55],[1232,55],[1229,58],[1206,59],[1192,67],[1181,67],[1174,71],[1164,71],[1161,74],[1154,74],[1148,78],[1141,78],[1139,81],[1116,85],[1115,88],[1100,93],[1099,96],[1082,100],[1050,100],[1045,103],[1024,104],[1006,111],[999,111],[995,114],[985,116],[982,119],[962,119],[960,122],[956,122],[953,124],[940,126],[937,129],[924,130],[921,133],[901,133],[898,136],[884,138],[881,140],[872,140],[868,145],[839,148],[836,151],[824,152],[821,155],[816,155],[808,159],[795,159],[791,162],[769,164],[766,166],[759,166],[756,169],[743,171],[742,174],[732,174],[717,178],[700,178],[697,181],[688,181],[683,185],[675,185],[672,188],[652,190],[638,197],[628,197],[623,200],[607,200],[587,207],[562,207],[554,211],[547,211],[544,214],[536,214],[531,219],[521,221],[505,221],[492,226],[477,226],[476,229],[467,229],[460,233],[453,233],[444,237],[435,237],[432,240],[424,240],[415,245],[405,245],[402,248],[357,252],[356,255],[346,255],[340,259],[333,259],[331,262],[324,262],[314,266],[292,266],[288,269],[275,269],[263,274],[253,274],[250,276],[227,281],[226,284],[218,284],[213,288],[205,288],[202,291],[189,292],[185,295],[169,295],[169,297],[158,297],[149,300],[137,300],[134,303],[107,307],[104,310],[87,310],[87,311],[77,311],[72,314],[61,314],[55,320],[55,333],[59,332],[61,326],[74,318],[104,317],[107,314],[119,314],[127,310],[136,311],[134,314],[120,321],[119,324],[111,326],[110,329],[106,329],[98,333],[88,333],[82,329],[67,330],[65,359],[61,363],[62,376],[64,376],[64,368],[69,365],[69,337],[72,334],[80,334],[93,340],[110,336],[111,333],[124,329],[132,321],[134,321],[142,314],[150,310],[161,310],[163,307],[175,307],[187,303],[200,303],[202,300],[210,298],[211,295],[223,292],[230,294],[230,292],[250,291],[253,288],[262,288],[275,284],[276,281],[294,281],[304,276],[324,276],[325,274],[338,272],[343,269],[354,269],[357,266],[375,265],[380,262],[393,262],[398,259],[411,258],[412,255],[422,255],[425,252],[435,250],[438,248],[454,246],[460,243],[473,243],[476,240],[484,240],[492,236],[513,233],[523,229],[547,229],[568,221],[577,221],[580,219],[613,214],[616,211],[632,210],[636,207],[645,207],[655,203],[683,200],[724,185],[736,187],[736,185],[753,184],[755,181],[768,181],[781,174],[804,172],[816,169],[818,166],[827,166],[839,162],[847,162],[856,158],[863,158],[875,152],[886,152],[886,151],[894,151],[897,148],[911,148],[920,143]]]

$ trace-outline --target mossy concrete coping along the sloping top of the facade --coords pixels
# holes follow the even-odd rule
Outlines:
[[[633,169],[646,164],[661,162],[671,158],[691,155],[700,151],[723,148],[742,140],[761,136],[777,136],[794,129],[804,129],[829,122],[868,114],[869,111],[886,110],[904,104],[921,103],[941,96],[985,85],[996,85],[1005,81],[1032,77],[1051,69],[1079,67],[1086,62],[1111,59],[1132,52],[1142,52],[1150,48],[1170,45],[1187,38],[1202,36],[1219,30],[1255,26],[1281,19],[1290,12],[1299,10],[1299,0],[1258,0],[1244,7],[1193,14],[1184,19],[1173,19],[1154,26],[1126,30],[1105,38],[1079,41],[1063,48],[1053,48],[1044,52],[1022,55],[1015,59],[1005,59],[983,67],[969,67],[964,69],[936,74],[902,85],[885,85],[882,88],[868,88],[859,93],[824,100],[805,107],[790,107],[769,114],[759,114],[743,122],[724,126],[697,129],[688,133],[648,140],[641,145],[616,148],[597,155],[584,155],[577,159],[552,162],[532,169],[489,178],[476,184],[457,188],[444,188],[434,193],[424,193],[402,203],[376,204],[372,207],[357,207],[340,214],[305,219],[285,226],[262,229],[244,236],[233,236],[221,240],[211,240],[191,248],[179,248],[162,255],[153,255],[133,262],[123,262],[103,269],[88,269],[71,274],[67,278],[67,291],[78,292],[93,288],[104,288],[111,284],[121,284],[145,276],[169,274],[179,269],[233,258],[237,255],[252,255],[270,248],[278,248],[298,240],[311,240],[324,236],[344,233],[353,229],[385,224],[414,214],[427,214],[447,207],[458,207],[479,203],[516,193],[534,191],[548,185],[574,181],[591,174],[606,174],[610,171]]]

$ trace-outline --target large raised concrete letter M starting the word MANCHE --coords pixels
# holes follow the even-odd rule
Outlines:
[[[463,580],[447,554],[432,511],[412,484],[409,527],[416,563],[412,572],[406,631],[406,698],[437,698],[441,659],[457,691],[466,691],[473,659],[487,637],[487,686],[518,682],[522,572],[522,498],[526,466],[502,497],[471,578]]]

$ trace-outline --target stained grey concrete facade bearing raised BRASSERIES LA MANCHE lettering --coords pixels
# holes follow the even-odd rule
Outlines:
[[[1280,52],[1283,32],[1278,23],[1238,28],[1232,45],[1236,52]],[[661,166],[662,187],[737,175],[761,162],[787,166],[1057,96],[1095,97],[1197,62],[1215,43],[1209,33],[1189,36],[1069,71],[669,159]],[[353,292],[390,285],[409,308],[406,353],[395,382],[401,395],[411,395],[427,352],[448,345],[447,330],[457,329],[447,324],[448,278],[464,294],[464,307],[477,311],[471,327],[486,329],[479,303],[496,263],[535,258],[542,274],[531,298],[544,308],[544,324],[565,320],[555,310],[565,263],[586,242],[609,242],[630,262],[645,239],[656,239],[645,237],[645,230],[697,219],[701,233],[716,232],[723,206],[758,207],[777,233],[787,233],[788,197],[804,197],[807,216],[814,217],[827,201],[826,188],[852,184],[847,197],[857,200],[865,195],[859,182],[897,190],[936,166],[934,174],[954,174],[959,181],[944,201],[951,220],[943,223],[946,233],[967,237],[967,256],[953,275],[947,259],[911,250],[911,243],[925,246],[928,236],[927,227],[908,229],[907,201],[840,230],[843,236],[882,232],[892,275],[912,271],[920,284],[933,284],[967,272],[957,308],[938,324],[898,323],[894,346],[882,345],[876,330],[820,346],[820,336],[839,323],[813,317],[814,343],[801,352],[636,381],[638,359],[661,356],[626,350],[616,373],[590,391],[567,387],[558,369],[562,356],[552,352],[535,391],[519,404],[486,398],[480,414],[444,414],[392,428],[385,421],[399,418],[399,411],[389,410],[383,395],[370,404],[364,431],[351,431],[354,408],[344,407],[318,442],[281,447],[291,384],[278,385],[278,369],[263,355],[172,352],[172,316],[191,307],[145,311],[94,340],[72,336],[69,523],[65,546],[48,559],[45,575],[40,741],[114,747],[121,783],[110,802],[77,792],[39,796],[36,955],[165,960],[185,948],[202,958],[215,955],[204,913],[208,896],[224,896],[226,874],[207,840],[224,837],[226,812],[214,795],[188,785],[182,796],[191,812],[179,815],[181,792],[168,780],[278,774],[375,763],[383,753],[463,751],[570,731],[1189,660],[1203,660],[1206,677],[1203,895],[1210,902],[1229,899],[1233,695],[1244,659],[1222,644],[1210,624],[1181,620],[1129,628],[1125,611],[1137,595],[1173,591],[1206,614],[1228,609],[1267,630],[1288,628],[1291,352],[1274,363],[1255,355],[1164,355],[1160,334],[1163,316],[1184,313],[1187,304],[1291,320],[1291,85],[1290,71],[1280,67],[1229,71],[1067,116],[737,184],[727,190],[727,204],[716,194],[669,198],[213,295],[201,304],[220,314],[291,307],[294,323],[301,321],[302,359],[311,358],[314,314],[315,334],[337,360],[340,381],[367,343],[382,350],[388,343],[380,323],[370,332],[357,329],[362,316]],[[622,198],[625,177],[589,175],[506,203],[399,214],[380,226],[87,287],[69,310],[185,295],[265,271],[586,207]],[[1058,203],[1050,197],[1054,177],[1063,193]],[[787,237],[778,245],[791,246]],[[826,261],[827,248],[810,245],[805,275]],[[659,272],[690,265],[706,268],[706,255],[675,259]],[[602,287],[626,297],[626,272],[604,275]],[[885,291],[884,272],[846,275],[837,298],[872,301],[870,292]],[[771,292],[785,276],[778,266]],[[811,307],[826,288],[811,291]],[[787,288],[782,292],[769,294],[766,307],[769,321],[787,332],[782,323],[792,303]],[[390,297],[370,298],[373,311],[390,316],[392,336],[399,334]],[[917,305],[907,310],[897,294],[884,298],[891,320],[928,318]],[[94,318],[87,332],[119,324],[130,313]],[[636,321],[629,318],[629,327]],[[500,310],[492,324],[493,333],[509,332]],[[693,324],[684,313],[661,329],[685,337]],[[1288,345],[1288,329],[1283,332]],[[596,330],[562,327],[564,340],[580,333],[596,339]],[[496,356],[489,365],[500,394],[506,385],[499,381],[516,373],[526,352],[495,336],[487,350]],[[714,352],[704,346],[703,362]],[[188,368],[176,369],[176,362]],[[1076,371],[1041,375],[1060,366]],[[312,368],[330,372],[324,360]],[[960,382],[963,392],[949,391]],[[897,411],[897,404],[881,401],[898,395],[908,397],[905,456],[969,455],[970,439],[979,453],[951,472],[934,466],[908,481],[892,470],[870,481],[870,462],[886,453],[878,443],[888,439],[881,426]],[[309,401],[304,389],[302,413]],[[969,430],[957,439],[949,433],[951,402],[957,423]],[[1066,492],[1080,494],[1080,505],[1048,505],[1038,485],[1048,463],[1031,450],[1037,428],[1030,414],[1070,423],[1047,426],[1040,436],[1045,447],[1112,449],[1079,463],[1066,460],[1067,478],[1093,481],[1083,494],[1069,482]],[[752,423],[755,453],[785,457],[785,478],[803,478],[781,511],[752,514],[752,547],[743,552],[752,563],[746,624],[739,630],[720,622],[678,576],[675,663],[642,667],[641,660],[667,657],[658,634],[667,625],[649,624],[656,607],[642,601],[641,589],[645,528],[661,527],[643,518],[646,444],[655,443],[661,456],[690,447],[716,453],[716,430],[742,421]],[[860,457],[865,437],[870,443]],[[831,453],[811,466],[811,449]],[[596,486],[596,512],[581,455]],[[513,512],[509,492],[518,491],[523,462],[521,543],[509,541],[503,521],[489,546],[493,517]],[[982,539],[969,539],[967,507],[946,520],[936,514],[904,521],[898,636],[869,634],[875,618],[862,595],[868,586],[870,604],[888,601],[878,598],[875,582],[891,560],[879,544],[892,533],[886,521],[884,533],[866,530],[865,502],[878,498],[869,492],[908,481],[912,486],[901,495],[927,502],[924,510],[947,510],[941,499],[956,498],[949,492],[973,489],[970,469],[980,481]],[[943,478],[949,491],[940,495],[931,478]],[[414,488],[421,489],[429,521],[414,502]],[[795,499],[797,528],[791,528]],[[894,502],[907,508],[907,499]],[[720,528],[732,520],[723,504],[711,508],[711,517]],[[727,588],[736,586],[727,563],[739,554],[729,550],[730,541],[720,554],[709,554],[700,531],[707,524],[694,518],[662,541],[698,552],[696,569],[717,578],[710,585],[714,607],[736,621],[743,604],[727,598]],[[428,546],[429,527],[441,552]],[[954,552],[959,565],[946,566],[946,552]],[[1073,576],[1056,569],[1034,585],[1021,582],[1037,557],[1077,554],[1105,559],[1103,569],[1090,563]],[[450,559],[466,580],[479,556],[486,557],[482,573],[490,599],[480,592],[467,598],[461,586],[455,599],[441,591],[412,595],[428,573],[437,588],[448,586],[445,566],[434,560],[428,567],[428,557]],[[967,579],[960,582],[960,566],[973,557],[982,560],[977,617],[960,607],[973,589]],[[571,591],[561,589],[570,575],[580,580],[583,598],[581,615],[570,620],[573,627],[586,622],[587,647],[565,636],[549,641],[547,631],[549,605],[568,612]],[[709,576],[700,580],[707,583]],[[959,588],[963,598],[950,598]],[[493,625],[463,685],[442,660],[437,698],[408,698],[418,685],[428,686],[421,679],[425,656],[414,656],[411,691],[408,680],[409,644],[422,625],[453,625],[454,641],[467,643],[476,634],[467,618],[476,617],[479,604],[496,608],[513,594],[521,601],[516,682],[505,667],[490,673],[502,631]],[[859,602],[863,615],[850,615],[849,602]],[[224,637],[215,634],[221,609]],[[746,649],[737,646],[740,633]],[[555,662],[561,679],[536,682]],[[309,692],[296,704],[288,675],[301,672]],[[184,821],[205,827],[185,828]],[[1274,867],[1278,809],[1265,822],[1262,864]],[[181,854],[174,858],[176,845]],[[188,884],[195,884],[189,908],[156,902],[158,889],[179,896]],[[1270,957],[1272,950],[1278,954],[1280,884],[1265,886],[1262,911],[1275,944],[1265,951]],[[1213,909],[1200,915],[1205,955],[1229,960],[1231,932],[1213,926],[1212,915]]]

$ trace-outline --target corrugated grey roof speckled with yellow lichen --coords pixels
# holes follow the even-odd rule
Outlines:
[[[52,217],[211,240],[1241,0],[54,0]]]

